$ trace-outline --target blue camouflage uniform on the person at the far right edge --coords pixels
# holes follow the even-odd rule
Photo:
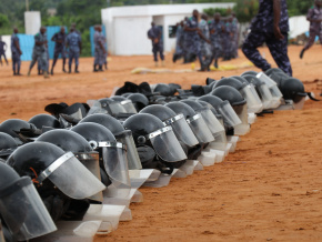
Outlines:
[[[322,9],[316,7],[310,9],[306,18],[322,19]],[[309,42],[304,47],[305,50],[310,49],[313,46],[316,36],[319,37],[320,43],[322,44],[321,22],[310,22],[310,38]]]

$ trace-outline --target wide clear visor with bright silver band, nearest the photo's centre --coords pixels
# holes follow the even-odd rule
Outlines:
[[[187,155],[171,127],[164,127],[150,133],[149,139],[157,154],[163,161],[177,162],[187,159]]]

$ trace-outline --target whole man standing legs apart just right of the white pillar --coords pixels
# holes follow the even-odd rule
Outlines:
[[[34,47],[32,51],[32,61],[29,67],[28,75],[30,75],[31,69],[33,68],[36,61],[39,61],[42,73],[44,78],[49,78],[48,75],[48,50],[47,50],[47,34],[46,28],[41,27],[40,32],[34,36]]]

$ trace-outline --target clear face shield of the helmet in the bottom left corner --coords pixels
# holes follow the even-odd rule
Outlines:
[[[23,177],[0,191],[0,213],[18,241],[57,230],[32,181]]]

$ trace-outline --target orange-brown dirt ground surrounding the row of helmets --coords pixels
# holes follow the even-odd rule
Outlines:
[[[293,75],[316,98],[322,89],[322,49],[313,47],[299,59],[301,47],[291,47]],[[271,63],[268,49],[261,49]],[[0,67],[0,122],[29,120],[52,102],[84,102],[111,94],[124,81],[177,82],[183,88],[203,84],[207,77],[241,74],[246,68],[220,72],[131,74],[138,67],[153,68],[151,57],[112,57],[109,71],[92,72],[92,59],[80,60],[80,74],[61,73],[43,79],[12,77]],[[220,64],[242,64],[240,58]],[[22,72],[27,73],[27,62]],[[191,69],[173,64],[168,69]],[[315,80],[315,81],[314,81]],[[322,240],[322,102],[306,101],[304,110],[279,111],[259,118],[241,138],[235,153],[224,162],[172,179],[167,188],[143,188],[144,202],[131,204],[133,220],[102,241],[321,241]]]

